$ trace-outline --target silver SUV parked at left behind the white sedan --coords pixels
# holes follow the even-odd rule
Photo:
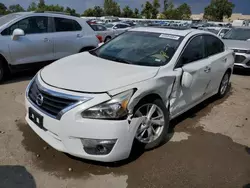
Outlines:
[[[0,81],[11,71],[30,69],[98,46],[86,20],[53,13],[14,13],[0,18]]]

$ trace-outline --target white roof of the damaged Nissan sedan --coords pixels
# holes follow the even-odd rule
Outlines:
[[[206,31],[196,30],[196,29],[178,30],[178,29],[158,28],[158,27],[137,27],[137,28],[131,29],[130,31],[171,34],[171,35],[179,35],[183,37],[187,36],[189,33],[194,33],[194,34],[208,33]]]

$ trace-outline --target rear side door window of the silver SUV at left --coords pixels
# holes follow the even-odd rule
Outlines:
[[[67,31],[81,31],[81,25],[71,19],[66,18],[55,18],[56,32],[67,32]]]

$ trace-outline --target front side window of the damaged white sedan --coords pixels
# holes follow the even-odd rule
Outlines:
[[[205,57],[204,37],[194,37],[185,48],[181,56],[181,64],[188,64]]]

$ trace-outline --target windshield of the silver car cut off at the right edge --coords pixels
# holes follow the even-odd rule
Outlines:
[[[224,35],[223,39],[248,40],[250,39],[250,29],[233,28]]]

